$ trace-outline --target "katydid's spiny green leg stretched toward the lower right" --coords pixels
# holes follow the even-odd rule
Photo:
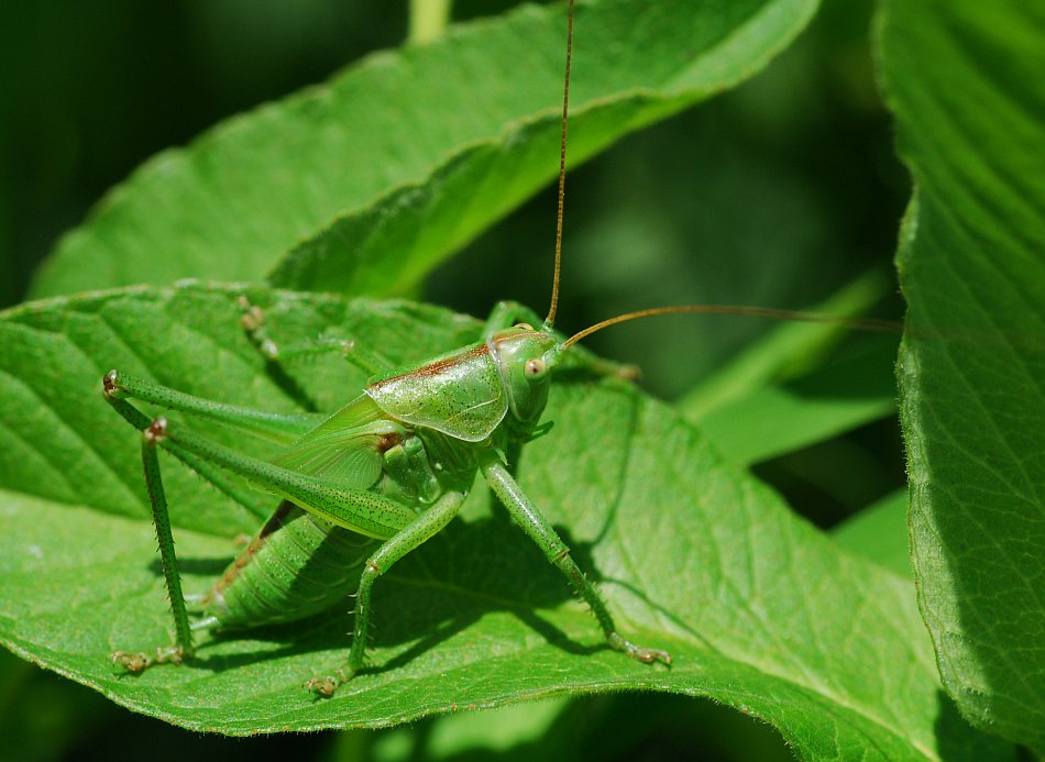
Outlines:
[[[584,576],[584,572],[581,571],[576,562],[570,556],[570,549],[566,548],[565,543],[559,538],[559,534],[556,533],[556,530],[548,523],[548,520],[541,516],[537,506],[530,503],[526,493],[524,493],[518,483],[512,478],[508,470],[497,460],[490,460],[481,466],[481,470],[483,472],[483,478],[486,479],[486,483],[494,494],[501,498],[505,508],[512,513],[512,518],[514,518],[522,528],[522,531],[537,543],[537,546],[543,551],[544,556],[565,575],[566,579],[569,579],[573,586],[576,596],[591,606],[592,614],[595,615],[600,627],[603,628],[603,633],[606,636],[606,642],[609,644],[609,648],[615,651],[620,651],[645,664],[651,664],[653,662],[671,664],[671,654],[667,651],[638,645],[629,640],[625,640],[625,638],[617,632],[617,627],[614,625],[609,608],[598,594],[595,585]]]

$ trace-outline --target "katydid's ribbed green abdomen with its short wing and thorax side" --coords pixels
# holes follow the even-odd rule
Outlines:
[[[448,488],[465,492],[475,461],[444,437],[398,421],[362,395],[278,453],[272,462],[366,489],[417,515]],[[402,519],[400,519],[402,521]],[[202,599],[198,628],[253,628],[296,621],[345,606],[363,565],[394,533],[348,529],[283,500]]]

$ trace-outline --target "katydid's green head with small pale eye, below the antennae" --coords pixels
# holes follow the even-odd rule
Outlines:
[[[519,323],[493,334],[487,344],[508,395],[512,415],[520,423],[536,423],[548,404],[551,368],[559,358],[556,336]]]

